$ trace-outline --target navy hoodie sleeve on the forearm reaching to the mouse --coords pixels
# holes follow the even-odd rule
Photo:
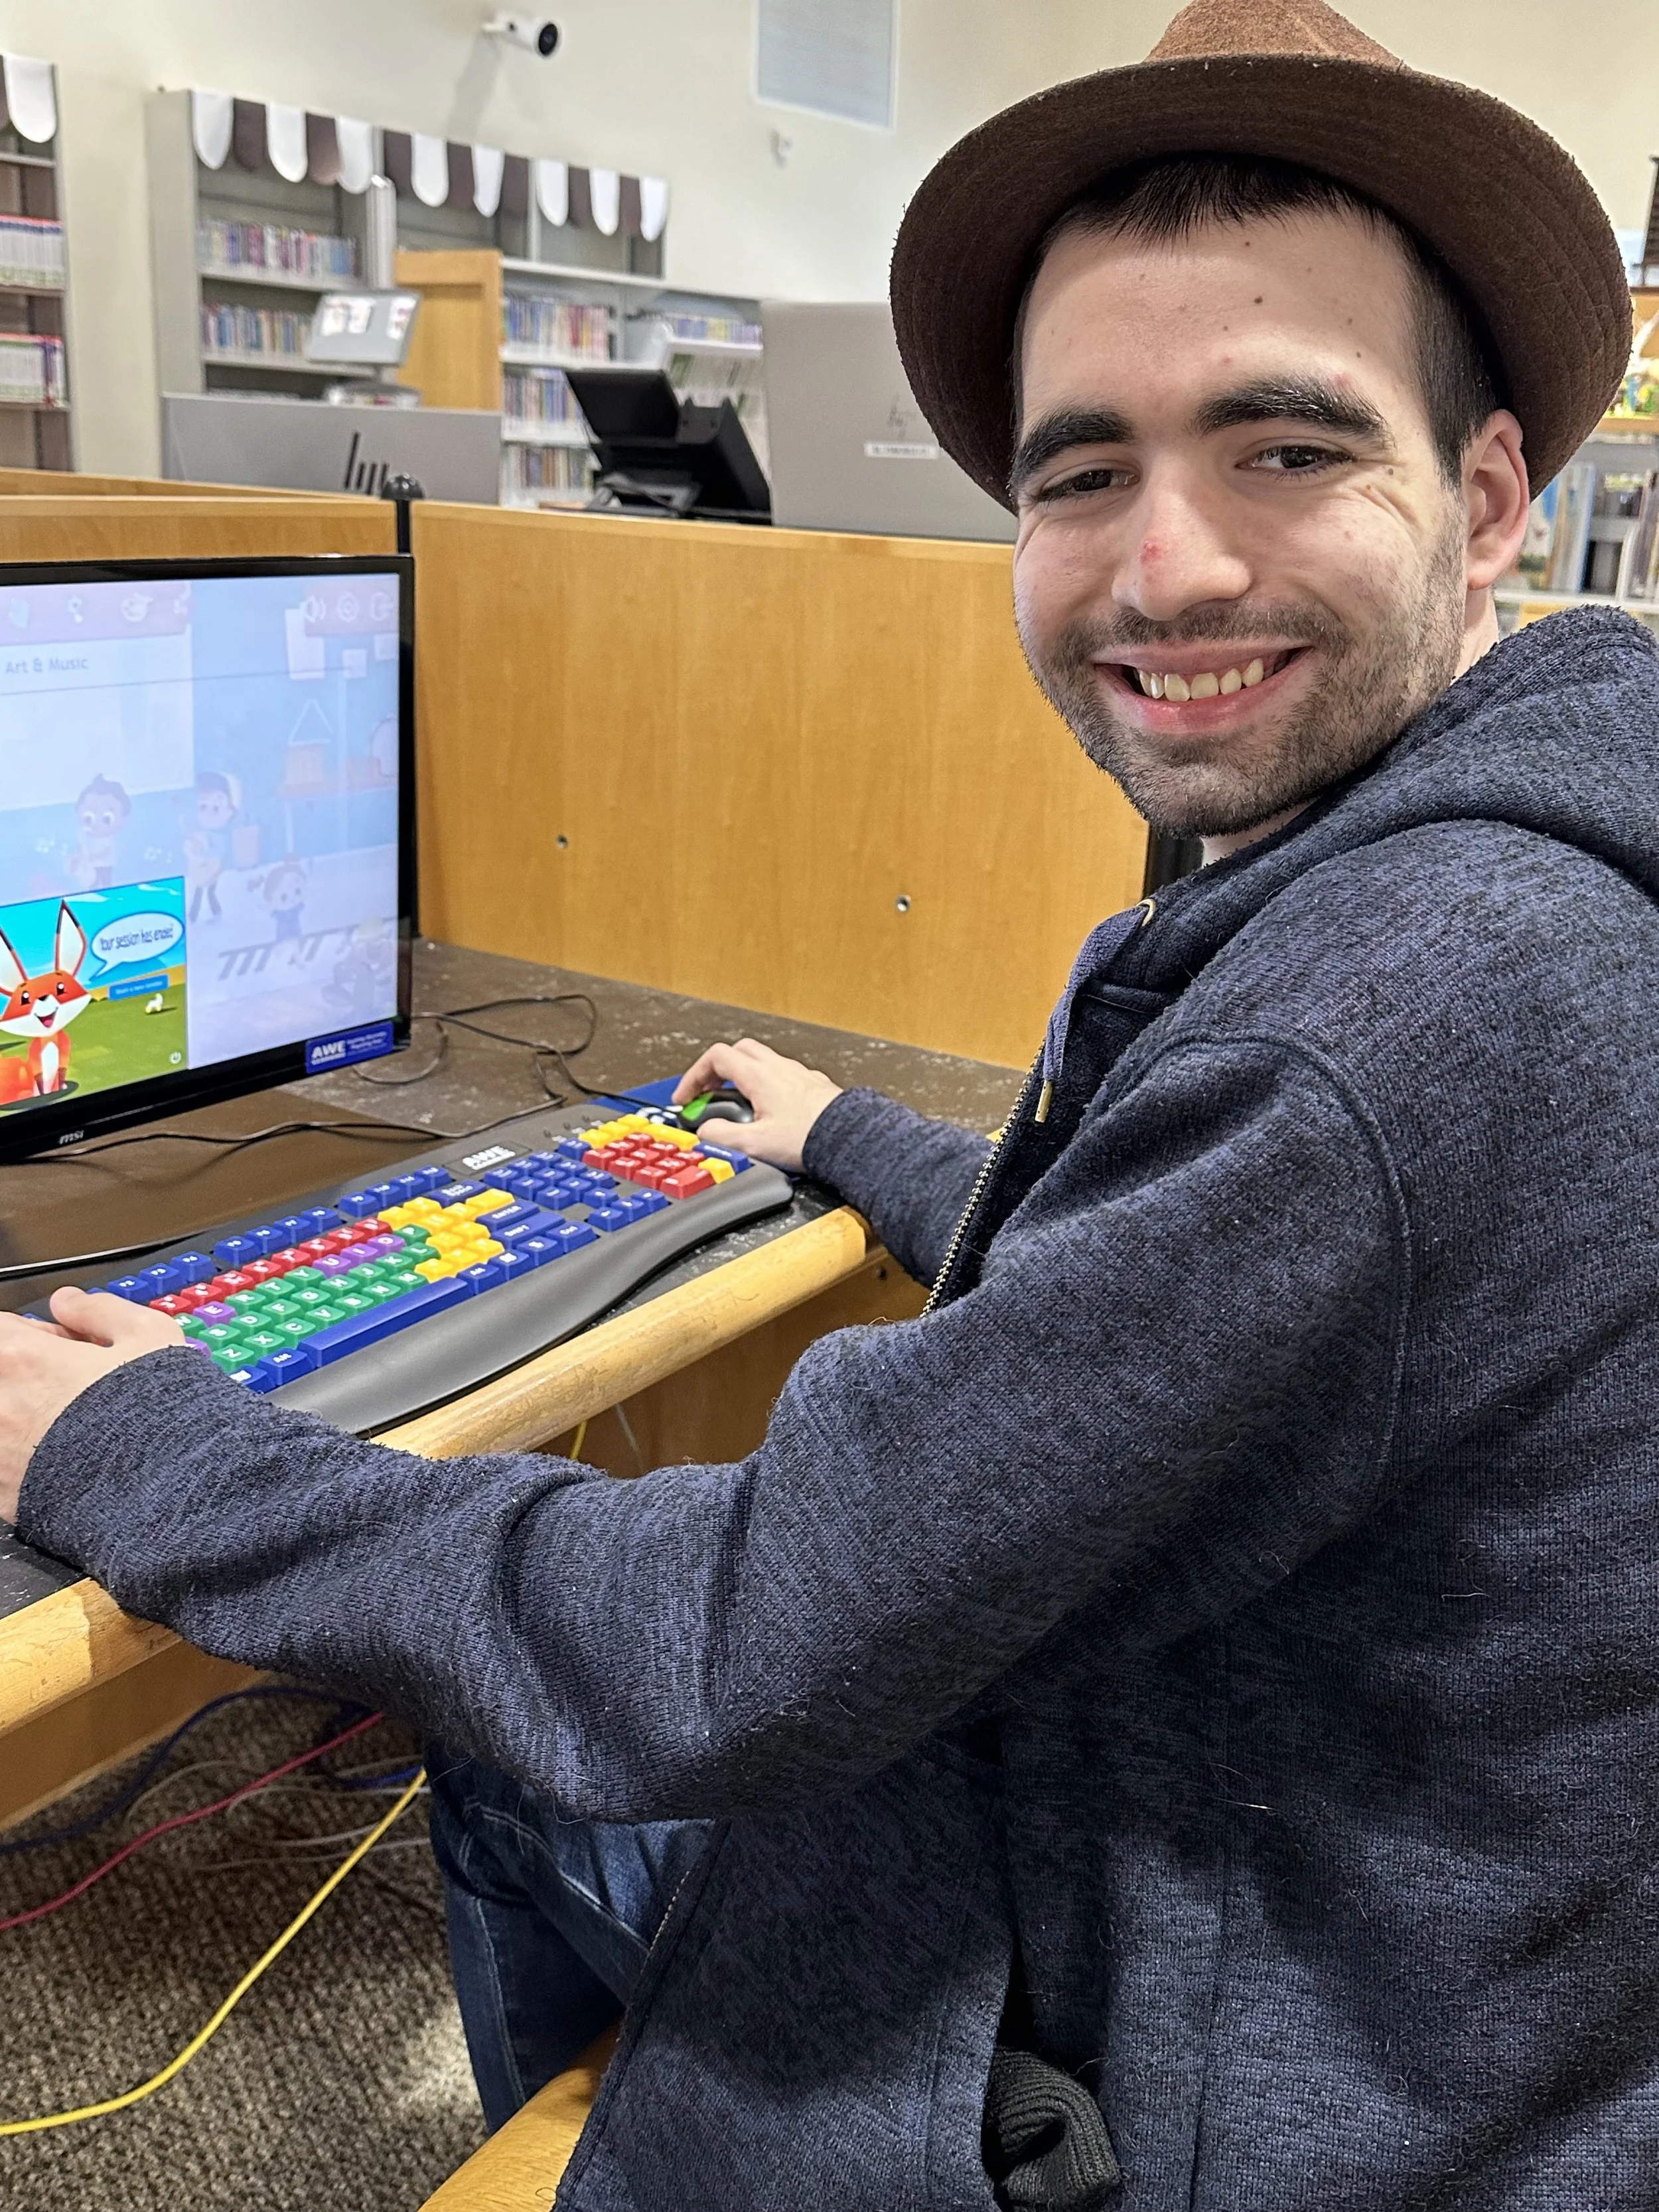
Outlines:
[[[803,1166],[869,1221],[898,1265],[931,1283],[991,1144],[880,1091],[843,1091],[807,1135]]]

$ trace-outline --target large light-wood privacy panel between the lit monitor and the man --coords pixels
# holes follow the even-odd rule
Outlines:
[[[414,509],[422,929],[1024,1062],[1146,830],[1009,551]]]

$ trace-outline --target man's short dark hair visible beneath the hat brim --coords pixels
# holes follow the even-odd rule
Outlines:
[[[1502,369],[1473,301],[1444,261],[1365,192],[1294,161],[1261,155],[1201,153],[1139,161],[1102,177],[1066,208],[1042,241],[1037,265],[1055,239],[1071,230],[1172,243],[1206,223],[1250,223],[1305,212],[1358,215],[1405,254],[1418,312],[1418,376],[1429,434],[1440,471],[1455,484],[1469,440],[1504,405]]]

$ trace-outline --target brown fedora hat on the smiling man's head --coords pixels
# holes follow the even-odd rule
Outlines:
[[[1192,0],[1146,62],[991,117],[922,179],[894,248],[894,325],[922,414],[1006,504],[1013,325],[1055,219],[1159,155],[1267,155],[1407,223],[1486,321],[1540,491],[1630,358],[1617,239],[1573,157],[1517,108],[1407,69],[1323,0]]]

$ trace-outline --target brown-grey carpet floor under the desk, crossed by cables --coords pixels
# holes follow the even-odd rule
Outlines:
[[[115,1820],[0,1856],[0,1918],[122,1843],[336,1732],[334,1708],[259,1697],[201,1721]],[[0,1838],[104,1807],[142,1761]],[[230,1812],[161,1836],[73,1905],[0,1933],[0,2119],[157,2073],[394,1803],[414,1765],[380,1723]],[[327,1778],[325,1772],[332,1776]],[[7,2212],[416,2212],[484,2137],[418,1798],[215,2039],[155,2097],[0,2137]]]

